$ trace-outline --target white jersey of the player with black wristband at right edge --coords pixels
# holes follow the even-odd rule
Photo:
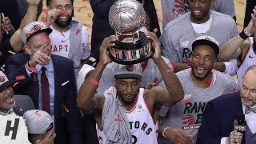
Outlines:
[[[254,37],[250,37],[250,47],[247,49],[244,58],[242,58],[242,64],[238,66],[238,88],[237,90],[241,90],[242,88],[242,76],[246,72],[246,70],[253,65],[256,65],[256,54],[254,53]]]

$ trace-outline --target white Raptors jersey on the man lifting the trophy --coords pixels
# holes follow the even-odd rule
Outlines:
[[[157,126],[153,122],[146,99],[143,97],[144,89],[139,90],[138,102],[134,108],[126,112],[132,144],[155,144],[157,142]]]

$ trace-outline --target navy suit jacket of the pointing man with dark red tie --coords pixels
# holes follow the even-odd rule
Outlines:
[[[74,78],[74,64],[68,59],[58,55],[51,55],[54,64],[54,122],[58,143],[81,143],[82,117],[76,103],[77,90]],[[14,86],[14,94],[29,95],[38,109],[39,86],[37,74],[26,72],[25,64],[30,60],[29,54],[17,54],[6,59],[6,73],[10,79],[24,75],[18,85]],[[68,82],[69,81],[69,82]],[[67,82],[62,86],[62,83]],[[64,135],[63,135],[64,134]],[[67,138],[67,139],[65,139]]]

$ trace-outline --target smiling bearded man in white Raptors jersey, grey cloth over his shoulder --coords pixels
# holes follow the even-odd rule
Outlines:
[[[72,17],[74,0],[46,0],[48,13],[57,14],[55,22],[50,25],[51,53],[69,58],[74,62],[74,74],[78,76],[80,67],[90,56],[89,34]]]

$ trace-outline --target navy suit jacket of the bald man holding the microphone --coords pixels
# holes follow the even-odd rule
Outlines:
[[[219,144],[234,130],[234,120],[242,113],[240,93],[224,94],[207,103],[198,130],[198,144]],[[243,138],[244,139],[244,138]]]

